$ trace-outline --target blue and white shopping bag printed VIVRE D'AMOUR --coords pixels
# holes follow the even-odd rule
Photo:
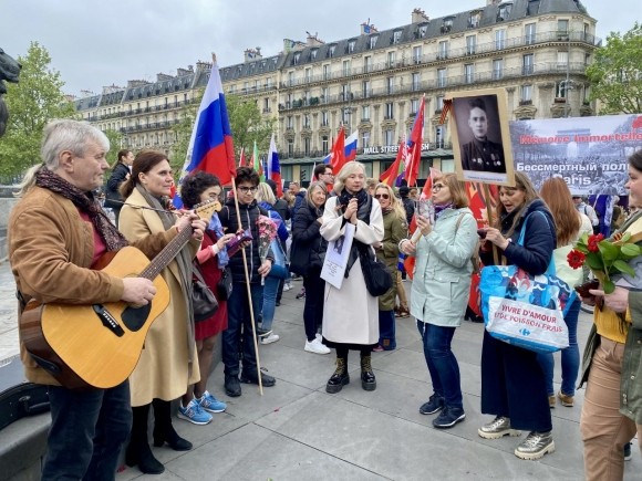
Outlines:
[[[524,245],[527,222],[528,218],[519,245]],[[536,353],[555,353],[569,346],[563,316],[576,292],[556,275],[552,257],[541,275],[531,275],[517,265],[487,265],[482,270],[479,292],[490,336]]]

